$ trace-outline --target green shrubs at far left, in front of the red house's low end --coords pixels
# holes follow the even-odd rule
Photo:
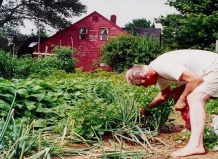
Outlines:
[[[54,56],[47,58],[32,58],[30,55],[22,58],[12,57],[10,53],[0,51],[0,77],[27,78],[29,76],[44,78],[54,70],[74,72],[76,60],[72,59],[74,51],[68,47],[55,47]]]

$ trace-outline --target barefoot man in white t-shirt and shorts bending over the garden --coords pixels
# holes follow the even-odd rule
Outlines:
[[[150,107],[172,96],[175,110],[190,110],[191,136],[187,145],[173,157],[204,154],[205,102],[218,97],[218,54],[203,50],[177,50],[164,53],[149,65],[134,66],[126,72],[126,79],[137,86],[157,85],[160,93]],[[171,88],[177,84],[177,88]]]

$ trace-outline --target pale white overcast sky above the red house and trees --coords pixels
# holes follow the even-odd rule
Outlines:
[[[165,5],[167,0],[80,0],[87,6],[87,13],[80,17],[73,17],[73,23],[97,11],[107,19],[111,15],[116,15],[117,25],[124,27],[125,24],[132,22],[133,19],[145,18],[154,22],[154,18],[163,15],[175,13],[175,8]],[[30,22],[25,23],[26,28],[21,28],[22,33],[30,34],[35,29]],[[155,24],[156,28],[161,27]]]

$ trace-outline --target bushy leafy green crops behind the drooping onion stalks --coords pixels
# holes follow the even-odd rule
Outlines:
[[[35,127],[38,128],[55,126],[53,130],[56,133],[62,132],[63,123],[70,118],[75,123],[77,134],[92,138],[93,132],[104,134],[108,128],[117,129],[123,123],[137,123],[140,108],[148,105],[155,94],[151,92],[157,91],[155,87],[129,86],[123,74],[60,72],[62,79],[58,74],[44,80],[11,82],[1,79],[0,116],[7,116],[13,95],[17,92],[14,103],[16,118],[24,121],[35,119]],[[160,128],[164,123],[159,124]]]

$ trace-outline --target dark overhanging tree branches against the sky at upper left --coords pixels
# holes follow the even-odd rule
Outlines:
[[[0,27],[23,25],[29,19],[61,29],[70,24],[70,18],[85,12],[79,0],[0,0]]]

